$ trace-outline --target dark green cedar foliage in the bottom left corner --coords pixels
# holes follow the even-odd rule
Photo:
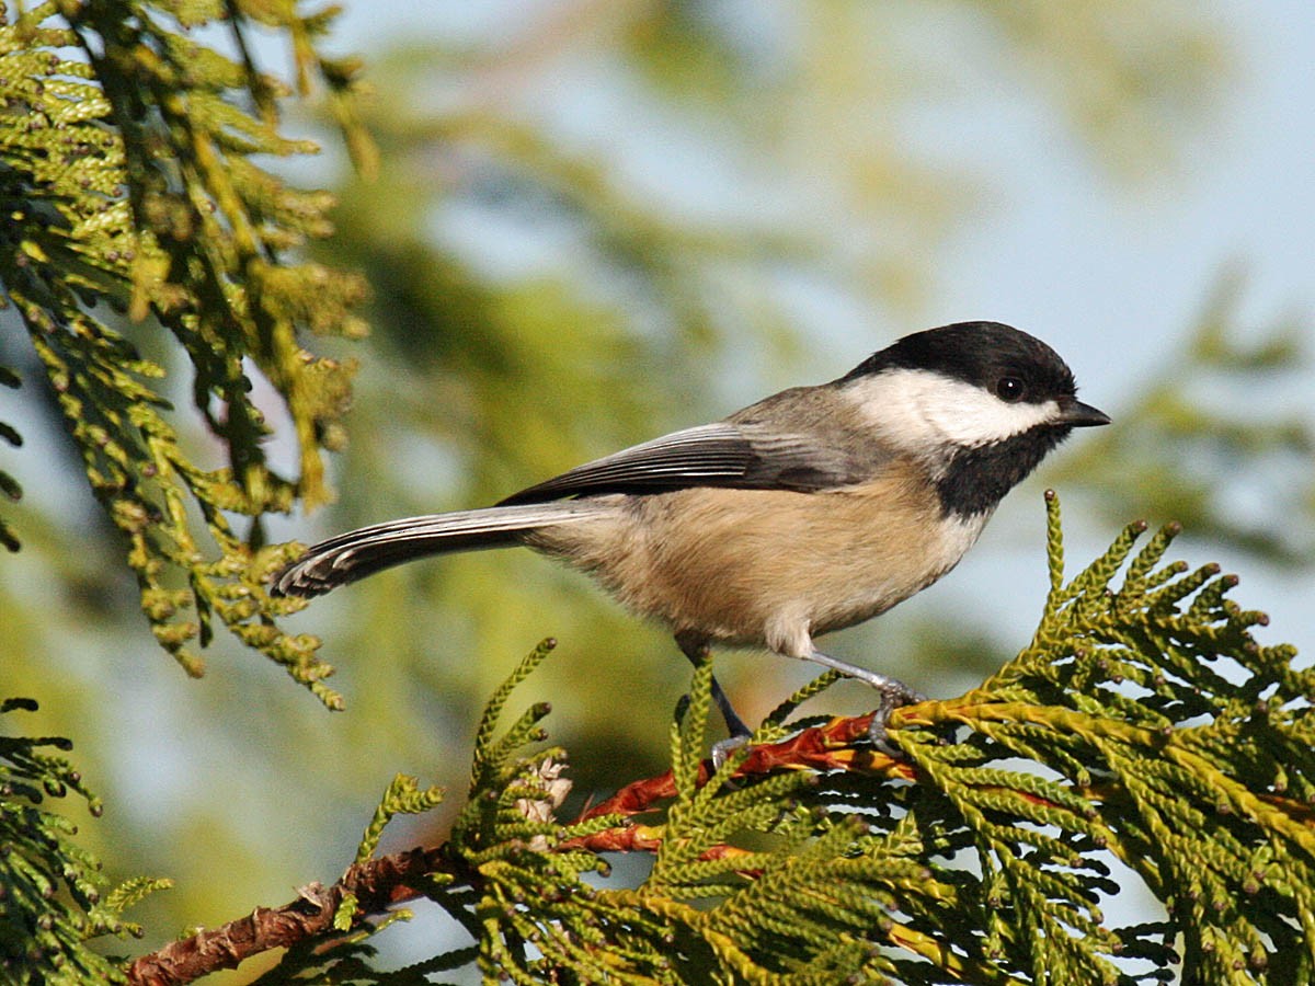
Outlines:
[[[0,699],[0,715],[34,711],[29,698]],[[70,793],[101,803],[70,763],[58,736],[0,736],[0,979],[7,983],[126,982],[122,970],[92,952],[87,940],[126,937],[139,929],[118,915],[167,881],[135,880],[105,891],[100,862],[78,845],[78,827],[46,811],[46,798]]]

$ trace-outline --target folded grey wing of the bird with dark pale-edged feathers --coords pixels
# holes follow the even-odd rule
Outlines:
[[[889,454],[869,435],[817,414],[817,401],[809,398],[814,389],[786,390],[726,421],[673,431],[577,465],[501,505],[689,486],[814,493],[871,479]]]

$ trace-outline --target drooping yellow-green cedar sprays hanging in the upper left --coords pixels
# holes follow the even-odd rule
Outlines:
[[[221,20],[235,57],[192,37]],[[256,163],[316,147],[279,133],[288,89],[250,57],[255,22],[295,39],[302,88],[314,75],[346,106],[352,67],[312,43],[327,18],[291,5],[50,3],[0,26],[0,281],[159,643],[200,673],[193,644],[218,621],[334,705],[316,642],[274,623],[287,606],[260,577],[279,552],[259,552],[258,518],[327,498],[322,452],[341,444],[350,367],[296,335],[359,335],[350,309],[363,283],[292,259],[330,231],[331,197]],[[151,343],[159,329],[191,364],[192,404],[227,458],[218,468],[184,448],[162,396],[172,373],[138,354],[133,337]],[[267,460],[259,379],[287,405],[296,479]],[[17,377],[5,369],[0,383]],[[9,425],[0,438],[18,442]],[[18,494],[12,477],[0,488]],[[241,518],[252,518],[246,534]],[[0,540],[18,538],[0,526]]]

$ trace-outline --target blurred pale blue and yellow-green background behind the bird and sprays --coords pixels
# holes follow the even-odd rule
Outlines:
[[[360,362],[339,501],[274,536],[492,502],[990,318],[1049,342],[1115,426],[1074,435],[953,575],[827,649],[931,694],[980,681],[1040,613],[1047,485],[1070,565],[1126,521],[1182,521],[1176,556],[1240,573],[1266,639],[1315,649],[1308,4],[416,7],[347,0],[334,32],[370,64],[377,179],[295,121],[325,142],[292,174],[338,192],[325,251],[366,273],[373,334],[333,343]],[[21,363],[11,335],[0,355]],[[663,769],[684,659],[529,552],[394,569],[296,617],[342,714],[227,644],[185,678],[58,425],[22,397],[0,394],[26,422],[7,468],[29,490],[0,569],[0,692],[76,741],[107,801],[84,831],[116,876],[176,881],[137,915],[143,947],[334,880],[398,770],[455,807],[480,705],[543,636],[558,653],[513,709],[552,702],[576,794]],[[748,716],[811,677],[759,653],[717,669]],[[842,685],[813,711],[869,703]]]

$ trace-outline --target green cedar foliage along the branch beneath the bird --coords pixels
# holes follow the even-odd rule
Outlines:
[[[1145,525],[1131,525],[1065,581],[1047,500],[1032,642],[981,688],[897,710],[903,760],[859,739],[768,766],[742,749],[711,773],[705,663],[671,774],[563,824],[562,751],[518,755],[547,709],[497,727],[548,646],[531,653],[488,706],[469,799],[422,890],[471,935],[484,981],[1310,982],[1315,672],[1253,639],[1264,615],[1227,598],[1233,577],[1165,563],[1176,526],[1135,551]],[[609,848],[652,866],[622,886]],[[1105,903],[1134,878],[1165,914],[1109,927]]]

